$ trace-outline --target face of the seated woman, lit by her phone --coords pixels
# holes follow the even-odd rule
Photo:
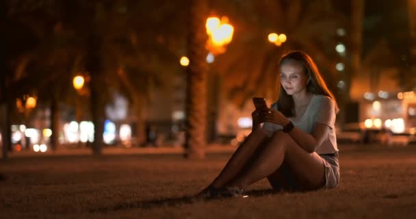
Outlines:
[[[281,85],[289,95],[306,92],[308,76],[302,63],[296,60],[286,60],[281,65]]]

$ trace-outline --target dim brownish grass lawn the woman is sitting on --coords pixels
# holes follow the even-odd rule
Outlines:
[[[0,218],[416,218],[416,146],[339,146],[334,190],[192,201],[229,153],[12,157],[0,163]]]

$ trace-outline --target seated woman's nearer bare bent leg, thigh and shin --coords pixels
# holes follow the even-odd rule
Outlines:
[[[325,170],[320,155],[307,153],[287,133],[276,131],[252,166],[229,182],[228,186],[246,188],[269,177],[281,167],[284,159],[302,187],[314,189],[324,184]]]

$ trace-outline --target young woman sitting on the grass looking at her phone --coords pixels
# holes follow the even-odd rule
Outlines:
[[[274,190],[335,188],[339,162],[335,117],[339,111],[315,62],[303,51],[279,63],[281,88],[270,108],[252,112],[252,132],[200,197],[243,196],[267,177]]]

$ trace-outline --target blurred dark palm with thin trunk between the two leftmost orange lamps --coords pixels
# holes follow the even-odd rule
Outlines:
[[[59,26],[60,23],[56,23]],[[70,70],[75,62],[79,48],[64,42],[65,33],[56,30],[45,34],[44,40],[36,48],[21,55],[16,64],[15,75],[22,75],[14,84],[21,89],[14,92],[15,96],[35,93],[38,103],[50,103],[51,108],[51,148],[57,149],[57,126],[59,123],[59,103],[70,101],[68,96],[75,95],[70,83],[73,75]]]

